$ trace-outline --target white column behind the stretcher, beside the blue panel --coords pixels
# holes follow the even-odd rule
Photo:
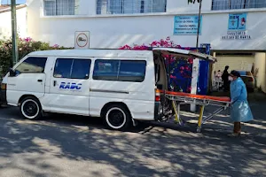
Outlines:
[[[200,59],[195,58],[192,65],[192,91],[191,94],[197,94],[199,79]],[[191,112],[196,112],[196,104],[191,104]]]

